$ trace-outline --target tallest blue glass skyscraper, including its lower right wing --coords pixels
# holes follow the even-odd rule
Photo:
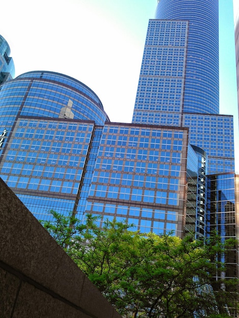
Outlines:
[[[234,170],[233,117],[219,115],[218,39],[218,1],[158,1],[133,115],[134,123],[188,127],[209,174]]]

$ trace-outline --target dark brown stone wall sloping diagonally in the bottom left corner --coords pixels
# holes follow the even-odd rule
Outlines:
[[[2,179],[0,317],[121,317]]]

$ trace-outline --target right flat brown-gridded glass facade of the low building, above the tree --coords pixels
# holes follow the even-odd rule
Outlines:
[[[86,212],[182,237],[187,143],[187,129],[105,124]]]

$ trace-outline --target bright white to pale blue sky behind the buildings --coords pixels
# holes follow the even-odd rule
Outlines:
[[[235,117],[237,148],[232,4],[219,0],[220,112]],[[0,34],[11,47],[16,76],[37,70],[72,76],[95,91],[111,121],[131,122],[156,6],[157,0],[8,0],[1,3]]]

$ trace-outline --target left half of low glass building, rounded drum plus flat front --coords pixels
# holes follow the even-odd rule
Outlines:
[[[69,76],[29,72],[0,86],[0,117],[1,177],[38,218],[79,212],[95,139],[109,121],[97,95]]]

